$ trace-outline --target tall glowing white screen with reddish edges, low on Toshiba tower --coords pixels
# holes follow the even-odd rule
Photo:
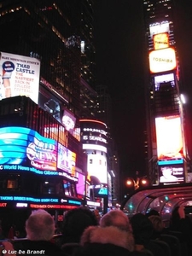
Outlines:
[[[183,134],[178,115],[155,119],[158,160],[183,158]]]

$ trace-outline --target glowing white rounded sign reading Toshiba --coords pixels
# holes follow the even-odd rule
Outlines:
[[[166,72],[176,67],[177,61],[174,49],[155,49],[149,53],[150,73]]]

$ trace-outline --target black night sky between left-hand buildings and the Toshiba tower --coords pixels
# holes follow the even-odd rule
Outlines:
[[[113,100],[112,131],[125,177],[145,172],[143,1],[96,1],[97,82]]]

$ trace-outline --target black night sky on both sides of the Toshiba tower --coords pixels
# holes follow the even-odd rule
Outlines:
[[[192,152],[192,1],[176,3],[181,92],[188,96],[187,131]],[[148,60],[143,27],[143,0],[96,0],[97,83],[107,85],[113,99],[112,131],[124,178],[146,172],[143,131]]]

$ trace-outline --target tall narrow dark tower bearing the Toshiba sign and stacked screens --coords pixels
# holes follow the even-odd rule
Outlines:
[[[175,39],[175,2],[143,0],[148,53],[148,175],[154,184],[187,181],[188,157],[180,68]],[[172,169],[177,181],[160,176]],[[168,173],[169,171],[166,171]]]

